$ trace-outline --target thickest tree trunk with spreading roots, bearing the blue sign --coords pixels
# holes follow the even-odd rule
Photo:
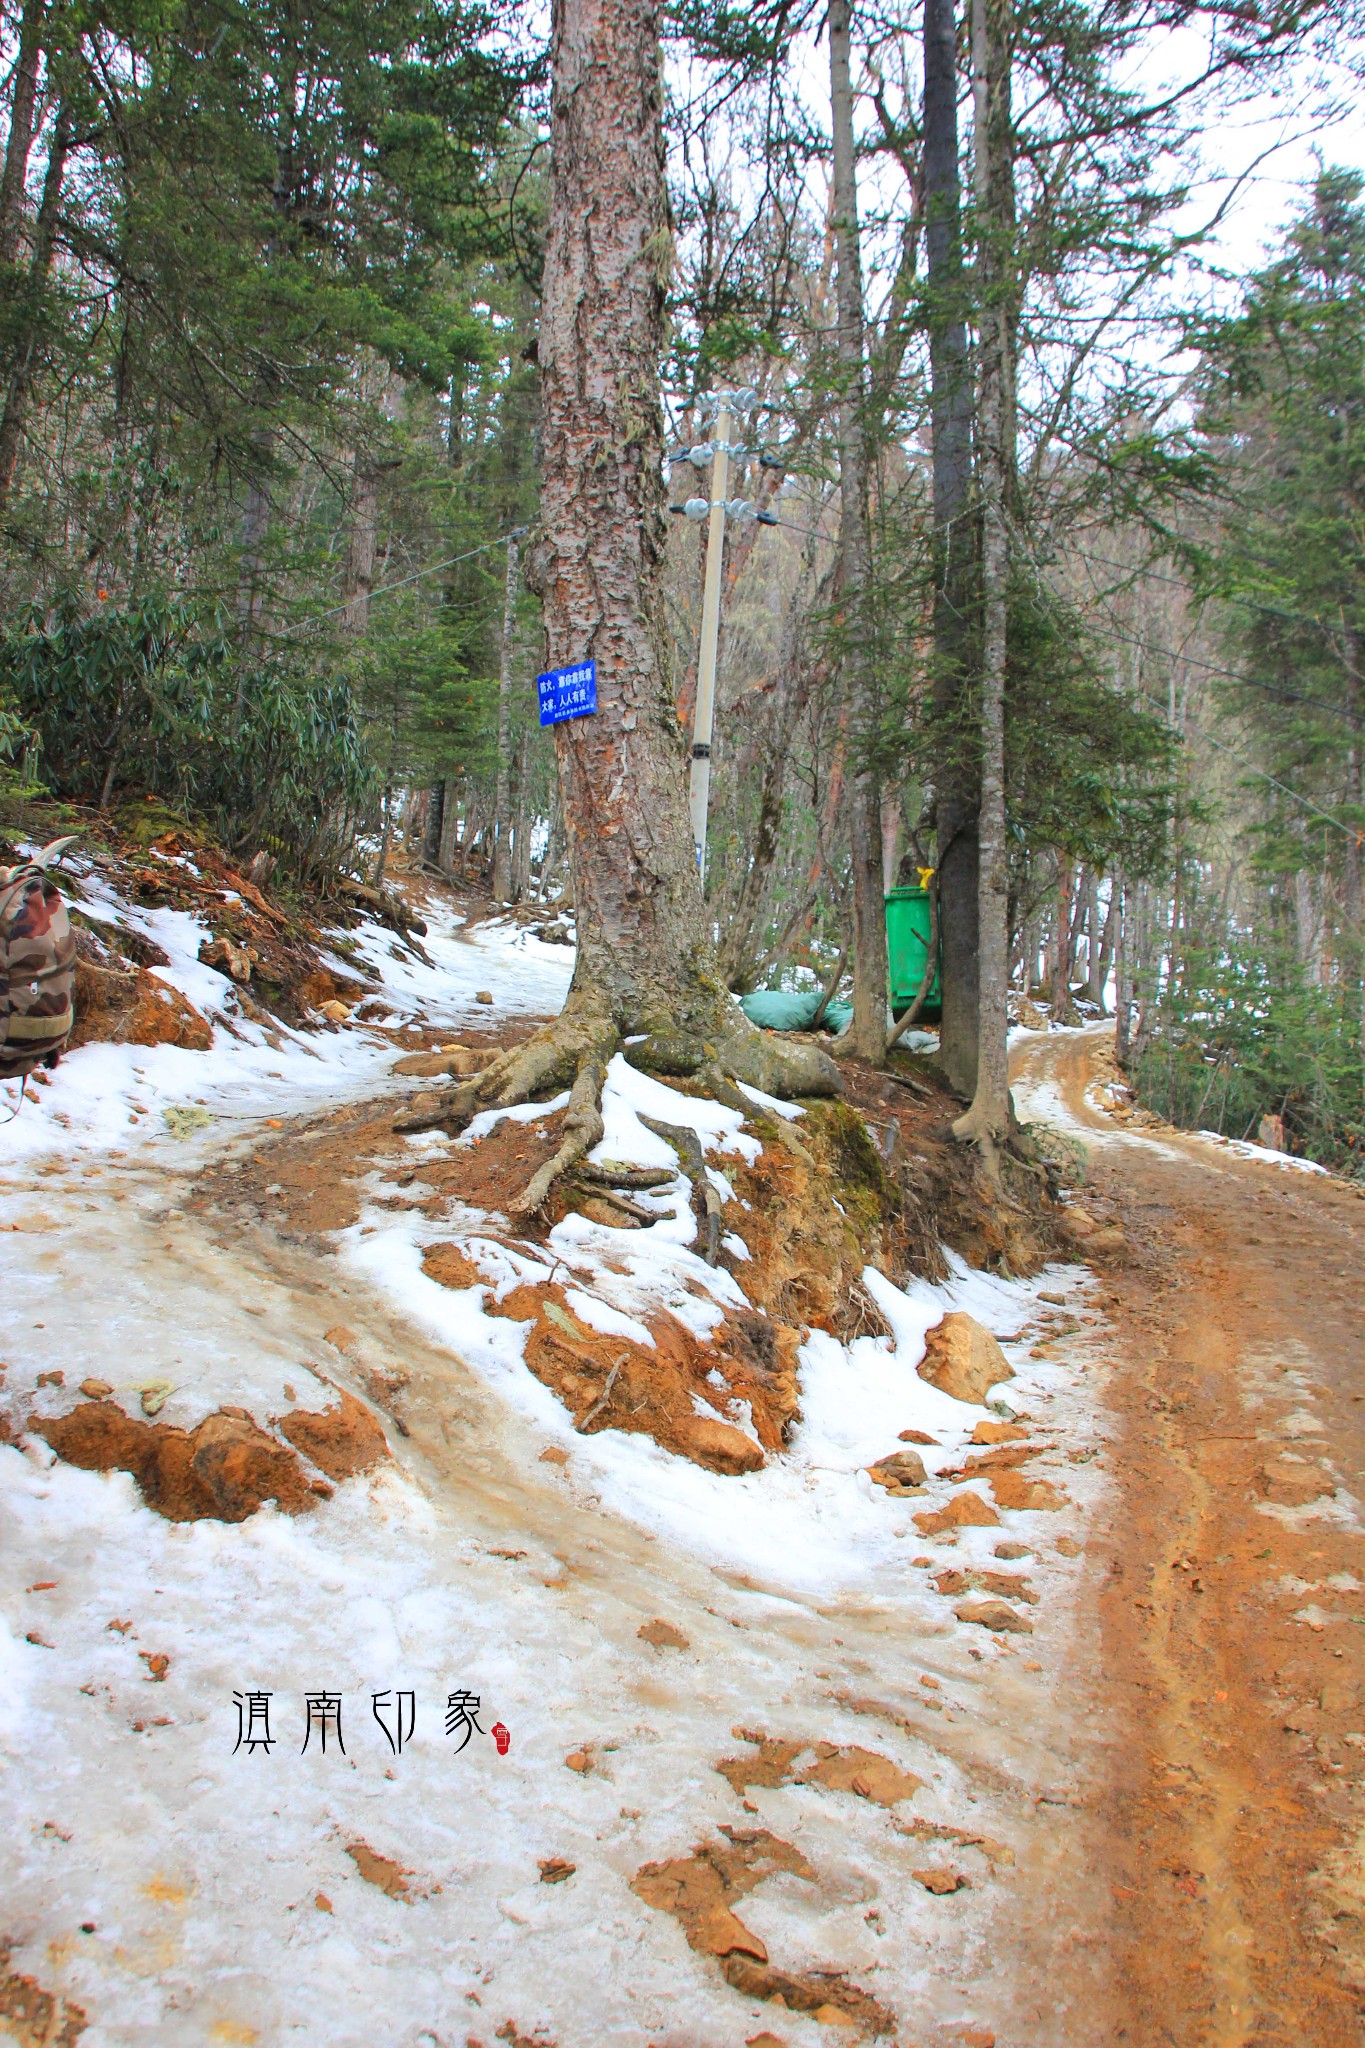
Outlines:
[[[671,229],[661,0],[555,0],[551,227],[540,375],[540,539],[526,580],[551,668],[598,666],[598,711],[555,727],[577,961],[561,1018],[399,1128],[569,1083],[563,1141],[518,1208],[602,1137],[606,1065],[626,1057],[718,1090],[831,1094],[814,1047],[776,1051],[720,981],[702,913],[663,616],[659,358]],[[737,1092],[735,1092],[737,1094]],[[739,1098],[745,1100],[745,1098]]]

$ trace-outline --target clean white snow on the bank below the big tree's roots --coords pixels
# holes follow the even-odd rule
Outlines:
[[[786,1116],[800,1114],[794,1104],[776,1108]],[[477,1124],[491,1126],[495,1114]],[[675,1167],[671,1147],[639,1120],[641,1114],[692,1124],[720,1165],[726,1151],[757,1153],[757,1143],[739,1128],[737,1110],[679,1096],[636,1073],[618,1055],[604,1094],[606,1135],[591,1157]],[[477,1135],[477,1124],[467,1137]],[[413,1163],[440,1145],[444,1139],[434,1135],[407,1141]],[[724,1196],[731,1194],[722,1174],[716,1174],[716,1184]],[[950,1282],[913,1282],[902,1290],[868,1268],[866,1286],[894,1337],[857,1337],[845,1346],[812,1331],[800,1354],[802,1421],[788,1454],[759,1473],[733,1479],[671,1456],[647,1436],[618,1430],[575,1436],[567,1411],[522,1364],[530,1325],[485,1313],[485,1296],[499,1300],[514,1286],[553,1274],[561,1280],[573,1276],[571,1307],[585,1323],[620,1329],[647,1343],[653,1339],[641,1319],[651,1311],[663,1309],[704,1335],[726,1309],[745,1309],[735,1278],[724,1268],[706,1266],[692,1249],[696,1223],[684,1174],[671,1186],[636,1198],[659,1214],[647,1229],[622,1233],[571,1214],[551,1231],[542,1257],[493,1243],[481,1212],[424,1217],[415,1208],[383,1206],[395,1194],[391,1180],[372,1178],[370,1206],[342,1237],[342,1262],[350,1272],[389,1294],[426,1335],[475,1366],[551,1442],[573,1446],[581,1483],[614,1513],[688,1546],[696,1556],[778,1573],[788,1585],[810,1591],[900,1579],[905,1542],[915,1536],[909,1509],[933,1505],[933,1497],[913,1497],[890,1509],[888,1497],[868,1479],[868,1464],[896,1448],[900,1430],[937,1438],[941,1448],[921,1452],[929,1475],[935,1475],[958,1464],[976,1423],[990,1419],[986,1407],[954,1401],[919,1378],[927,1329],[948,1309],[964,1309],[997,1335],[1013,1337],[1038,1292],[1058,1284],[1056,1270],[1027,1284],[1003,1282],[950,1255]],[[487,1288],[452,1290],[422,1272],[426,1247],[452,1237],[481,1268]],[[1050,1393],[1062,1374],[1058,1366],[1025,1360],[1021,1350],[1015,1360],[1019,1376],[999,1389],[1009,1411]],[[945,1485],[941,1493],[948,1491]],[[962,1548],[982,1563],[997,1538],[999,1532],[988,1528],[966,1530]]]

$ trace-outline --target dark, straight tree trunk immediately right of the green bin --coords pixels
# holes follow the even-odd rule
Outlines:
[[[939,1061],[962,1096],[976,1087],[976,778],[958,743],[974,610],[972,381],[968,371],[958,29],[954,0],[925,0],[925,252],[933,418],[933,702],[943,1020]]]

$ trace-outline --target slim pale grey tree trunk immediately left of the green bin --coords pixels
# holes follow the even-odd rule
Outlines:
[[[833,135],[833,221],[837,258],[839,354],[839,588],[841,668],[847,678],[855,750],[849,791],[853,897],[853,1024],[849,1051],[874,1067],[886,1063],[886,909],[882,891],[882,784],[876,768],[876,702],[868,645],[868,379],[864,287],[853,164],[853,82],[849,74],[849,0],[829,0],[829,96]]]

